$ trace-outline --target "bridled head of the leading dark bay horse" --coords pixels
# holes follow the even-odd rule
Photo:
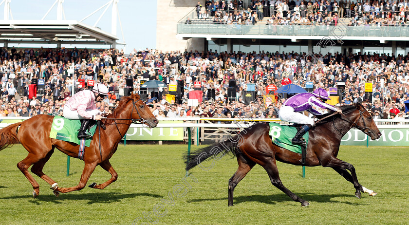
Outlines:
[[[353,120],[353,127],[370,136],[372,140],[381,137],[381,132],[373,121],[371,114],[365,109],[365,107],[360,103],[356,103],[355,108],[356,110],[354,111],[354,114],[356,114],[356,116]]]

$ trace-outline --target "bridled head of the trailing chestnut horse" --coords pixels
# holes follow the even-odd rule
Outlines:
[[[132,114],[130,115],[132,122],[146,124],[149,128],[156,127],[159,121],[150,112],[149,107],[144,103],[139,94],[132,93],[130,97],[132,99]]]

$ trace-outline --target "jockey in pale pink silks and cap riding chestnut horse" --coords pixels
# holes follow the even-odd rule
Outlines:
[[[67,119],[83,120],[81,128],[78,131],[78,139],[90,138],[91,134],[87,133],[93,120],[100,120],[101,113],[95,106],[95,101],[101,101],[108,95],[108,88],[103,84],[96,84],[93,90],[83,90],[74,94],[64,106],[64,117]]]

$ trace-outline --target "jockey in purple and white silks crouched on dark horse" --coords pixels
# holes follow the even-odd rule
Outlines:
[[[304,115],[302,112],[307,111],[314,115],[321,115],[312,107],[318,107],[322,109],[329,109],[336,112],[342,112],[340,109],[335,108],[332,105],[323,103],[323,101],[330,99],[327,91],[322,88],[316,89],[311,93],[300,93],[288,98],[279,110],[279,119],[282,121],[304,124],[302,128],[297,131],[296,136],[293,138],[293,145],[304,145],[305,140],[302,136],[314,126],[314,119]]]

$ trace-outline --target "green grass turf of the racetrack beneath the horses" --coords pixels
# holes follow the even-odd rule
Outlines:
[[[26,157],[20,145],[0,152],[0,224],[132,224],[144,217],[185,176],[182,154],[186,145],[120,146],[111,159],[118,180],[104,190],[85,187],[56,198],[49,185],[35,176],[40,195],[33,199],[32,187],[16,164]],[[339,158],[355,166],[361,184],[378,192],[362,199],[353,185],[333,169],[306,168],[278,163],[283,184],[310,202],[301,207],[272,186],[267,173],[255,166],[235,189],[234,206],[227,207],[227,182],[237,169],[236,159],[223,157],[208,171],[191,170],[198,180],[188,179],[191,189],[183,197],[173,193],[174,206],[166,215],[150,214],[157,224],[408,224],[408,148],[341,147]],[[56,150],[44,172],[60,187],[77,185],[83,162],[71,160],[66,177],[66,155]],[[210,165],[207,163],[205,166]],[[98,167],[88,185],[111,176]],[[163,209],[164,210],[164,209]],[[163,212],[163,211],[162,211]],[[148,222],[143,218],[137,224]]]

